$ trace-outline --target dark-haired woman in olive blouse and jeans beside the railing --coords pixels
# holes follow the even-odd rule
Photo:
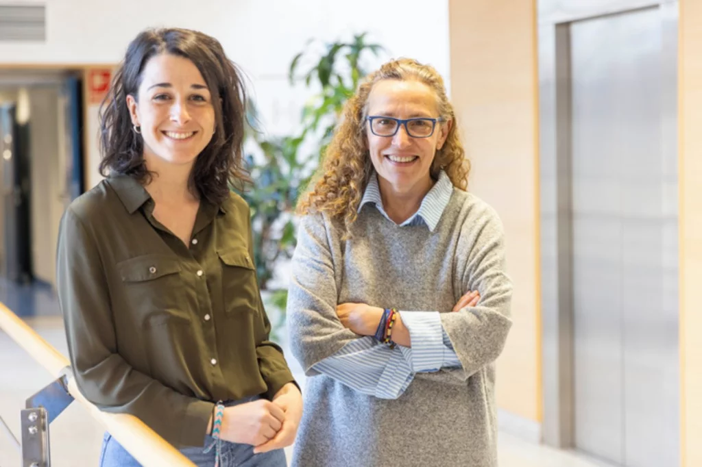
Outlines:
[[[100,111],[107,178],[69,206],[58,241],[81,393],[140,418],[198,466],[284,466],[302,414],[268,340],[249,207],[230,191],[249,181],[244,102],[216,39],[139,34]],[[100,465],[139,464],[106,434]]]

